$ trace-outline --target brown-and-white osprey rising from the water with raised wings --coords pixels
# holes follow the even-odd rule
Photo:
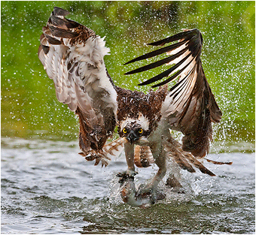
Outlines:
[[[166,53],[165,59],[126,73],[168,66],[166,71],[139,84],[145,86],[164,78],[153,86],[160,86],[157,91],[144,94],[114,85],[105,68],[104,56],[110,50],[105,47],[104,38],[66,19],[68,14],[69,11],[62,8],[53,9],[47,26],[42,29],[38,57],[53,80],[56,98],[78,115],[80,154],[103,166],[108,164],[109,154],[114,155],[114,150],[124,146],[128,168],[118,174],[123,187],[121,195],[123,201],[134,206],[144,205],[145,198],[151,203],[158,199],[157,185],[166,174],[169,158],[191,173],[197,167],[214,176],[199,159],[209,152],[212,122],[220,122],[222,114],[200,60],[203,44],[200,31],[184,30],[151,43],[151,46],[163,46],[178,41],[126,62]],[[178,82],[169,89],[167,83],[175,79]],[[120,137],[107,144],[116,126]],[[172,129],[184,134],[182,144],[174,140]],[[135,164],[148,167],[152,163],[157,164],[159,170],[147,185],[136,191]],[[170,185],[173,182],[179,185],[175,179],[171,181]]]

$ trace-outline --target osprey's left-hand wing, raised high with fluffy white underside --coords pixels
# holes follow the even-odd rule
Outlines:
[[[43,27],[38,57],[53,80],[56,98],[78,114],[84,155],[104,155],[102,148],[116,125],[117,92],[105,68],[109,50],[93,30],[65,18],[54,8]]]

